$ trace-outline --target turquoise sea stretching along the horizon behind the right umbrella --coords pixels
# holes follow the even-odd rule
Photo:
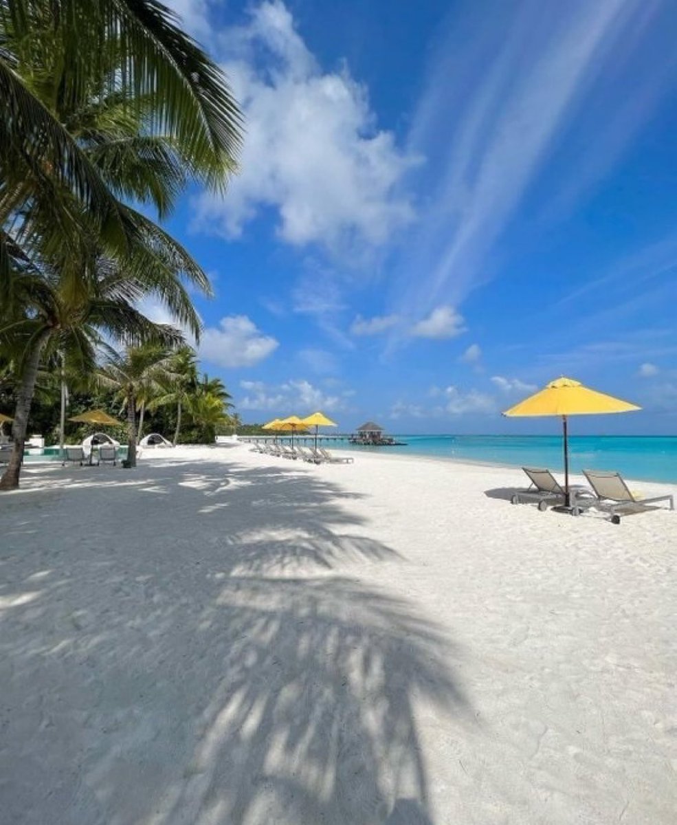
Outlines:
[[[548,467],[553,472],[564,468],[562,436],[393,437],[406,446],[361,447],[337,442],[336,447],[384,455]],[[677,483],[677,436],[570,436],[569,467],[574,474],[583,469],[608,469],[628,479]]]

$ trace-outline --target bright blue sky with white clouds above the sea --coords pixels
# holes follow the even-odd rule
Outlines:
[[[244,421],[548,433],[501,410],[567,375],[677,433],[675,2],[165,2],[246,118],[166,222]]]

